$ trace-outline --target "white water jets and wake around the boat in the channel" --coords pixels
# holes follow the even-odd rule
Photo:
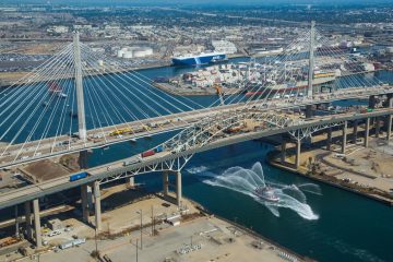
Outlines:
[[[305,194],[305,192],[321,194],[321,190],[317,184],[303,183],[288,186],[282,183],[267,183],[264,179],[262,165],[259,162],[257,162],[251,169],[231,167],[222,175],[210,172],[204,166],[193,167],[188,169],[188,171],[209,177],[203,180],[203,182],[213,187],[223,187],[250,195],[255,201],[266,206],[275,216],[279,216],[279,207],[286,207],[295,211],[306,219],[318,219],[318,215],[314,214],[310,205],[307,204],[307,196]],[[274,198],[265,198],[260,191],[269,191]]]

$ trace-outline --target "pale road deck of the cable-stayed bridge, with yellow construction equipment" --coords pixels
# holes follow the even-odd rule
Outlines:
[[[382,85],[377,87],[352,87],[338,90],[334,93],[321,93],[313,97],[289,97],[287,99],[276,98],[270,100],[251,102],[264,110],[286,109],[295,107],[303,107],[307,105],[315,105],[321,103],[332,103],[343,99],[368,98],[371,95],[392,94],[393,86]],[[254,103],[254,104],[253,104]],[[0,168],[12,167],[20,164],[31,163],[35,160],[46,159],[53,156],[61,156],[70,153],[78,153],[85,150],[105,147],[107,145],[121,143],[130,140],[138,140],[145,136],[152,136],[159,133],[171,132],[190,127],[192,123],[206,118],[211,115],[231,111],[237,109],[248,110],[250,104],[245,103],[224,105],[213,108],[204,108],[193,111],[184,111],[168,116],[162,116],[151,119],[132,121],[116,126],[109,126],[87,131],[87,140],[83,141],[70,135],[61,135],[48,138],[40,141],[32,141],[24,144],[2,145],[0,152]],[[120,129],[129,129],[120,135],[110,135]]]

